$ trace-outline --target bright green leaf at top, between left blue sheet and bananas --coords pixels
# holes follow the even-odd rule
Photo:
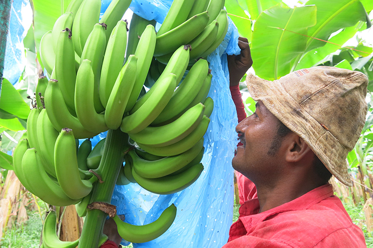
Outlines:
[[[39,51],[41,37],[49,30],[52,30],[57,18],[66,11],[70,1],[30,0],[34,14],[34,37],[37,51]]]

